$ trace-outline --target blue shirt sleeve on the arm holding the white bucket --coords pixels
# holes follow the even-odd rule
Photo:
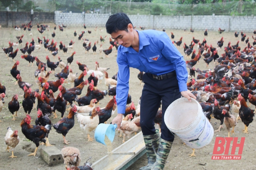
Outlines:
[[[187,68],[183,56],[173,45],[166,33],[159,37],[158,43],[162,55],[175,66],[180,92],[187,91]]]

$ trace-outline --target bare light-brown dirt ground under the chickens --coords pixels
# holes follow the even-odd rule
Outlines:
[[[37,42],[37,37],[40,39],[43,39],[43,36],[46,38],[49,38],[52,40],[51,33],[54,31],[53,27],[54,25],[50,25],[50,31],[45,31],[43,35],[41,35],[37,30],[36,30],[36,23],[33,23],[34,27],[32,28],[32,33],[33,36],[30,36],[30,32],[27,30],[24,32],[22,31],[15,31],[13,28],[2,28],[0,29],[0,46],[2,48],[8,47],[8,41],[11,42],[17,42],[16,36],[21,36],[24,34],[23,44],[19,46],[18,48],[24,48],[25,43],[31,42],[32,38],[35,39],[36,44]],[[139,26],[137,26],[139,27]],[[103,32],[100,32],[99,29],[104,29]],[[114,74],[117,73],[118,68],[116,64],[116,57],[117,57],[117,52],[115,52],[115,49],[113,52],[109,55],[109,58],[105,58],[105,55],[99,55],[99,51],[97,50],[97,54],[93,55],[92,49],[89,51],[89,54],[85,54],[85,50],[83,49],[82,43],[83,41],[78,41],[78,37],[74,37],[73,33],[76,30],[77,33],[80,33],[80,31],[83,31],[83,27],[67,27],[64,29],[63,32],[59,31],[56,29],[56,37],[54,38],[55,42],[62,41],[63,44],[67,45],[70,40],[72,39],[75,44],[74,44],[74,50],[76,51],[76,54],[74,55],[74,61],[71,64],[71,68],[73,69],[74,73],[78,73],[80,75],[81,71],[78,69],[78,66],[76,64],[76,60],[80,61],[83,64],[86,64],[89,69],[95,69],[95,61],[98,61],[101,67],[106,67],[110,68],[108,70],[109,77],[112,77]],[[103,44],[103,49],[107,49],[110,44],[109,44],[109,35],[106,33],[105,28],[98,28],[96,31],[94,28],[87,28],[86,30],[92,31],[91,34],[85,33],[83,38],[89,39],[92,44],[94,44],[95,41],[100,39],[100,35],[102,37],[105,37],[107,35],[106,41]],[[160,30],[161,31],[161,30]],[[241,31],[241,30],[237,30]],[[175,38],[174,40],[178,41],[180,37],[183,37],[182,42],[186,42],[186,44],[190,44],[192,41],[192,37],[194,36],[195,39],[199,39],[200,42],[204,39],[204,31],[197,31],[195,30],[194,33],[190,33],[189,30],[184,31],[184,30],[170,30],[167,29],[166,33],[171,37],[171,32],[174,33]],[[253,33],[246,33],[247,37],[250,37],[250,43],[252,44],[252,38],[251,35]],[[221,37],[224,37],[224,46],[227,46],[228,42],[231,42],[231,45],[236,44],[237,40],[234,37],[233,32],[227,32],[225,31],[223,34],[219,34],[216,31],[208,31],[208,37],[206,37],[207,44],[212,44],[214,47],[217,47],[217,41],[221,39]],[[241,40],[241,35],[239,35],[239,40]],[[100,41],[100,40],[99,40]],[[241,46],[241,49],[245,47],[245,44],[239,44]],[[97,48],[99,48],[100,44],[96,45]],[[16,49],[16,48],[14,48]],[[182,55],[185,56],[183,48],[178,48],[179,51],[182,53]],[[197,48],[194,48],[197,49]],[[72,52],[73,52],[72,51]],[[71,55],[70,51],[68,51],[67,54],[63,54],[62,51],[59,51],[59,54],[57,56],[61,57],[61,59],[66,62],[67,57]],[[196,50],[196,53],[198,52],[198,49]],[[219,55],[223,53],[223,49],[219,52]],[[17,54],[17,57],[15,60],[19,60],[20,64],[18,66],[18,69],[21,72],[21,77],[22,80],[25,82],[29,82],[30,84],[33,84],[32,90],[37,89],[37,85],[35,84],[35,78],[34,78],[34,71],[37,69],[36,64],[34,64],[33,67],[28,67],[28,62],[22,58],[20,58],[20,55],[22,53],[19,51]],[[19,88],[19,86],[14,86],[15,84],[15,79],[10,75],[10,69],[12,68],[14,62],[9,59],[7,60],[7,57],[5,56],[5,53],[1,50],[0,52],[1,55],[1,67],[0,67],[0,81],[2,85],[6,86],[6,97],[5,97],[5,104],[2,112],[0,113],[0,139],[2,142],[0,142],[0,170],[19,170],[19,169],[26,169],[26,167],[30,167],[29,169],[37,169],[37,170],[64,170],[65,165],[61,164],[58,166],[48,166],[45,161],[40,157],[39,150],[42,147],[46,146],[39,146],[39,150],[37,152],[36,157],[28,157],[27,155],[30,152],[33,152],[33,149],[35,148],[35,144],[27,141],[24,135],[21,132],[20,128],[20,122],[21,120],[25,117],[25,113],[23,108],[21,108],[18,112],[18,118],[16,121],[11,121],[12,115],[8,110],[8,102],[11,101],[11,98],[13,95],[18,94],[19,95],[19,102],[21,106],[21,102],[23,100],[23,91]],[[43,62],[46,62],[46,55],[50,57],[50,60],[55,62],[58,60],[58,58],[53,58],[53,56],[48,52],[45,51],[44,48],[41,49],[41,51],[38,51],[35,49],[35,51],[32,52],[32,55],[39,57],[39,59]],[[188,60],[185,58],[185,60]],[[210,63],[210,69],[214,68],[213,62]],[[206,69],[206,63],[201,59],[200,63],[198,63],[196,68],[200,68],[201,70]],[[49,68],[47,68],[49,71]],[[56,69],[55,73],[58,73],[59,68]],[[135,107],[137,106],[138,99],[141,96],[141,91],[142,88],[140,85],[140,82],[137,78],[137,74],[139,71],[137,69],[131,68],[130,69],[130,90],[129,93],[132,95],[132,101],[135,103]],[[87,79],[88,76],[86,76]],[[56,80],[56,77],[54,75],[50,75],[49,80]],[[64,84],[66,88],[70,88],[71,84]],[[102,81],[101,84],[98,84],[98,89],[100,90],[107,90],[108,87],[105,86],[104,80]],[[86,94],[86,90],[83,90],[82,95]],[[22,95],[22,96],[21,96]],[[54,94],[55,97],[57,97],[58,93]],[[109,97],[107,96],[105,99],[100,101],[100,107],[105,107],[106,104],[109,101]],[[251,108],[254,109],[254,106],[251,106]],[[58,117],[60,118],[60,113],[57,113]],[[33,110],[31,112],[31,117],[33,120],[36,119],[36,111]],[[116,113],[115,113],[116,115]],[[114,115],[114,116],[115,116]],[[67,116],[67,112],[65,113],[65,116]],[[114,117],[113,116],[113,117]],[[113,119],[109,119],[108,123],[111,122]],[[52,117],[51,117],[52,119]],[[186,118],[184,118],[186,119]],[[52,123],[56,123],[59,121],[59,119],[52,119]],[[211,124],[214,128],[214,130],[217,130],[219,127],[220,121],[217,121],[216,119],[211,119]],[[7,127],[11,126],[13,130],[18,130],[19,131],[19,137],[20,137],[20,143],[17,145],[17,147],[14,150],[14,155],[17,156],[17,158],[8,158],[11,153],[5,152],[6,150],[6,145],[4,144],[4,137],[7,132]],[[171,149],[171,152],[169,154],[169,157],[167,159],[167,163],[165,165],[166,170],[174,170],[174,169],[207,169],[207,170],[213,170],[213,169],[231,169],[231,170],[253,170],[256,169],[256,163],[253,161],[255,159],[255,154],[253,154],[256,150],[256,146],[254,144],[254,141],[256,140],[256,137],[254,133],[256,133],[256,123],[255,121],[250,124],[248,127],[249,134],[244,134],[241,132],[243,130],[244,124],[239,121],[236,128],[235,128],[235,134],[232,137],[238,137],[238,141],[240,141],[241,137],[245,137],[245,144],[243,148],[243,154],[241,157],[241,160],[211,160],[211,155],[213,152],[213,146],[215,143],[215,137],[227,137],[228,132],[226,130],[226,127],[224,126],[224,129],[221,129],[221,132],[215,132],[213,140],[208,146],[205,146],[204,148],[198,149],[195,151],[195,154],[197,157],[189,157],[188,154],[192,153],[192,150],[187,147],[186,145],[182,144],[182,141],[178,138],[174,139],[174,143]],[[91,132],[91,136],[94,136],[94,131]],[[107,152],[107,147],[104,146],[103,144],[97,143],[96,141],[93,142],[87,142],[86,134],[83,132],[83,130],[80,128],[77,119],[75,118],[75,125],[74,127],[67,133],[66,139],[70,140],[70,146],[74,146],[78,148],[81,152],[81,165],[89,158],[92,157],[90,162],[94,163],[104,155],[106,155]],[[126,139],[127,140],[127,139]],[[63,144],[63,138],[61,134],[58,134],[53,128],[52,131],[49,134],[49,141],[51,144],[54,144],[58,149],[62,149],[65,144]],[[122,144],[122,138],[118,137],[118,134],[116,133],[116,137],[113,141],[113,148],[116,148],[117,146]],[[31,146],[29,146],[31,145]],[[237,152],[236,152],[237,153]],[[138,170],[141,166],[145,166],[147,164],[147,158],[144,155],[139,159],[137,162],[134,163],[134,165],[130,166],[128,170]]]

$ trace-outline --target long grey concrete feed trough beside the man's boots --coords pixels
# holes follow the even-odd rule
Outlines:
[[[93,170],[125,170],[146,153],[142,132],[112,150],[91,166]]]

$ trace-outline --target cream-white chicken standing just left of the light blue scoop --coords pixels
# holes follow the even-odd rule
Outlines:
[[[100,107],[96,107],[95,109],[93,109],[91,116],[76,114],[80,127],[85,131],[85,134],[87,134],[88,142],[93,141],[93,138],[90,137],[90,132],[94,130],[100,122],[98,117],[99,111]]]

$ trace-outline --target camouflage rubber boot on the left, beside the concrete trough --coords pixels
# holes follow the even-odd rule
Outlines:
[[[139,168],[139,170],[151,170],[152,165],[156,162],[156,153],[159,146],[159,131],[156,130],[154,135],[143,135],[147,150],[148,165]]]

